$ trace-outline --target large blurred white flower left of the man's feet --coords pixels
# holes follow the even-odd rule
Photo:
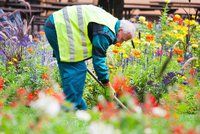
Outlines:
[[[39,98],[36,101],[32,101],[30,106],[50,117],[57,116],[61,109],[59,102],[54,97],[43,92],[39,93]]]

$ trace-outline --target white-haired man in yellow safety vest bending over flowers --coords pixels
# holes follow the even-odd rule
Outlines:
[[[58,62],[66,100],[75,109],[87,109],[82,98],[87,59],[92,58],[98,79],[114,93],[109,83],[106,50],[111,44],[134,36],[135,27],[131,22],[118,20],[93,5],[77,5],[54,12],[44,29]]]

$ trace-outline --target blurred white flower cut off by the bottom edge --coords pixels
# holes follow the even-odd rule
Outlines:
[[[120,130],[115,129],[110,124],[92,122],[89,126],[89,134],[120,134]]]

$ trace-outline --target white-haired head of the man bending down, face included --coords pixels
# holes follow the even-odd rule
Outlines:
[[[135,25],[128,20],[120,20],[120,28],[117,32],[117,42],[122,43],[134,37]]]

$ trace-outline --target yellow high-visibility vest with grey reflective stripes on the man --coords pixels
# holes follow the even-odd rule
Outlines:
[[[92,57],[88,24],[95,22],[115,32],[117,18],[93,5],[67,6],[53,13],[60,60],[77,62]]]

